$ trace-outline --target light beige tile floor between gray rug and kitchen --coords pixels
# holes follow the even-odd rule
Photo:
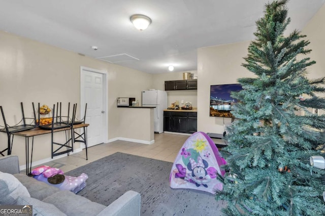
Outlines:
[[[187,135],[155,134],[155,142],[151,145],[118,140],[88,148],[88,160],[86,160],[86,150],[83,149],[82,152],[50,161],[44,165],[60,168],[63,172],[68,172],[115,152],[174,162],[177,153],[188,137]]]

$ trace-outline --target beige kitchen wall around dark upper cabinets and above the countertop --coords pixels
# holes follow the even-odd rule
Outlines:
[[[193,73],[197,76],[196,70],[182,71],[182,72],[171,72],[171,73],[160,73],[155,74],[153,77],[153,88],[157,90],[165,90],[165,81],[168,80],[182,80],[183,73]],[[175,101],[179,101],[180,106],[182,106],[181,101],[190,102],[192,107],[198,107],[198,91],[197,90],[186,90],[186,91],[167,91],[168,96],[168,106],[171,106]],[[184,105],[183,104],[183,105]]]

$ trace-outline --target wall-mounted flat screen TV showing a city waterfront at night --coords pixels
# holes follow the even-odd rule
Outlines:
[[[210,87],[210,116],[233,118],[230,112],[237,102],[230,96],[231,92],[242,90],[241,84],[221,84]]]

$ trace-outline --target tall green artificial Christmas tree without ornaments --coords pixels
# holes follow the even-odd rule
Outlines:
[[[228,215],[325,215],[325,171],[309,161],[323,155],[325,115],[310,110],[325,108],[325,78],[306,77],[315,62],[305,56],[305,35],[284,36],[286,3],[267,4],[256,21],[243,64],[256,76],[238,79],[243,90],[233,93],[236,119],[222,151],[229,172],[216,195]]]

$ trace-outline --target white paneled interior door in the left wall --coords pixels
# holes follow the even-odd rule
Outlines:
[[[94,69],[81,68],[81,116],[87,103],[86,120],[88,147],[105,142],[107,137],[106,89],[107,74]]]

